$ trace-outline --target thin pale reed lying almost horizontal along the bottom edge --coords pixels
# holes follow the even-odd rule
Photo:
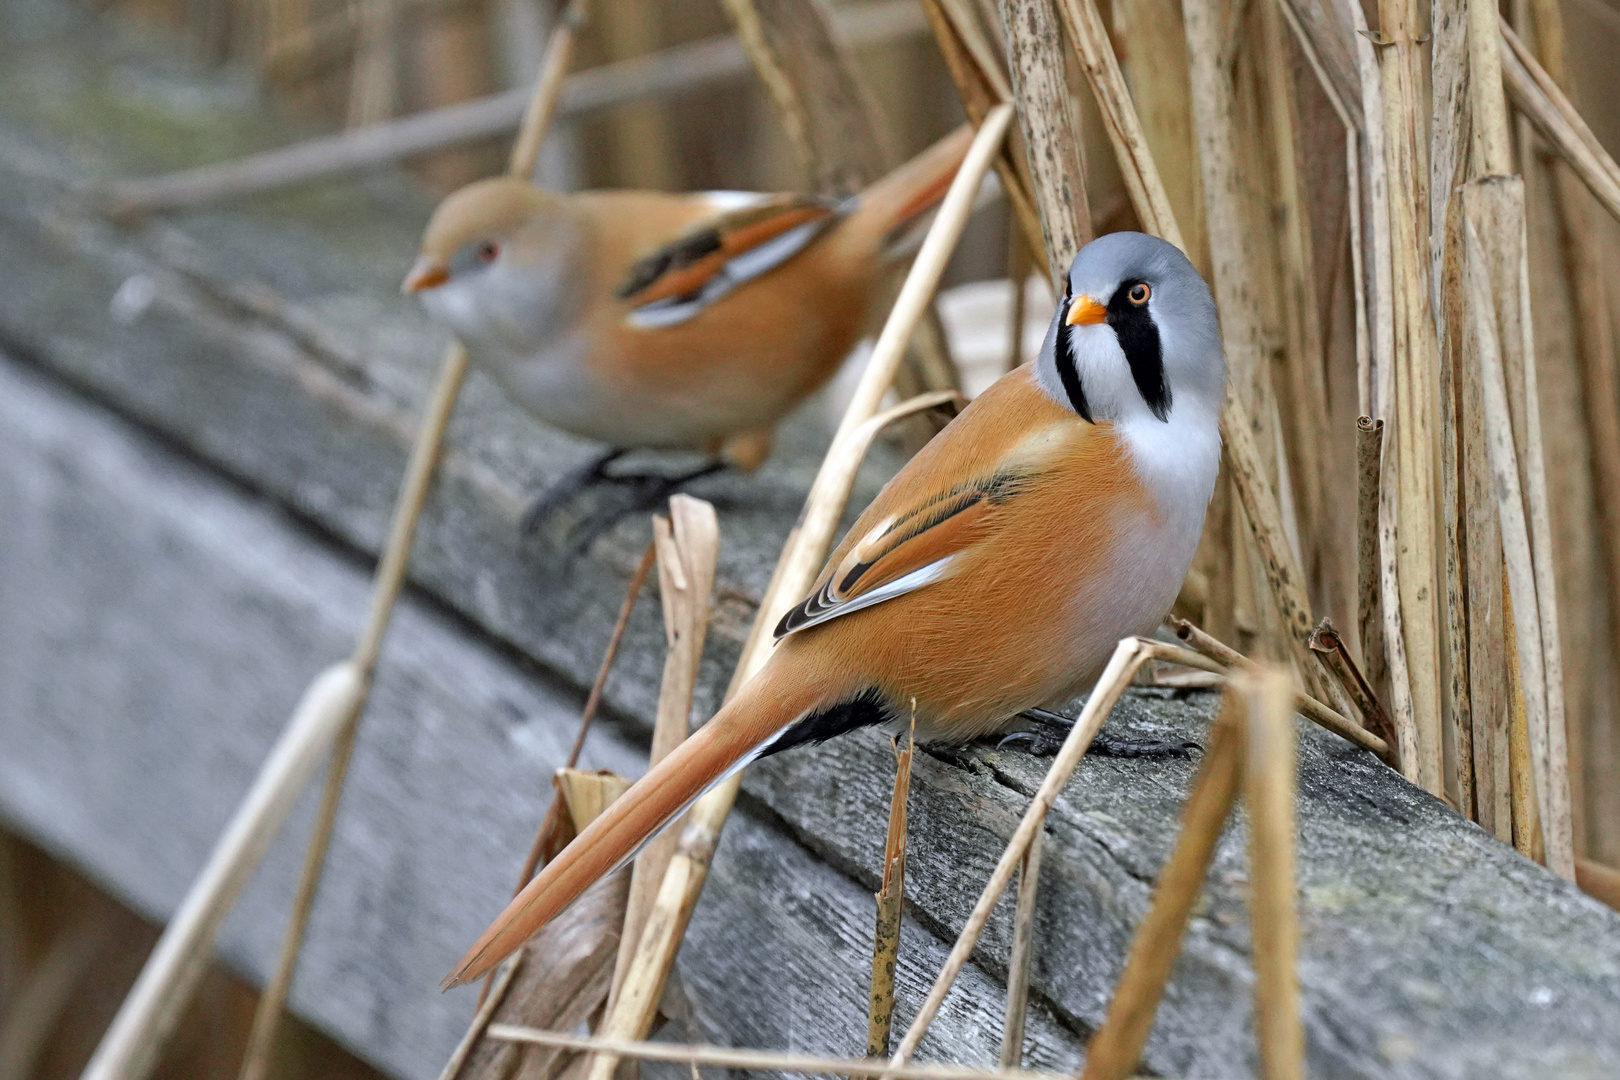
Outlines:
[[[906,1065],[896,1069],[883,1061],[855,1057],[815,1057],[812,1054],[779,1054],[763,1049],[729,1049],[721,1046],[679,1046],[674,1043],[646,1043],[638,1040],[590,1038],[562,1031],[541,1031],[510,1023],[492,1023],[489,1038],[507,1043],[531,1043],[556,1046],[637,1061],[667,1061],[677,1065],[718,1065],[755,1072],[804,1072],[834,1077],[894,1077],[894,1080],[1071,1080],[1059,1072],[1035,1072],[1029,1069],[974,1069],[970,1065]]]

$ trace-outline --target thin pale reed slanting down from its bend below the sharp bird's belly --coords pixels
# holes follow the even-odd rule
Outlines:
[[[1063,790],[1063,785],[1068,784],[1069,777],[1074,774],[1076,766],[1081,764],[1081,756],[1085,753],[1085,748],[1092,745],[1092,738],[1103,725],[1103,721],[1108,719],[1108,712],[1113,711],[1119,695],[1126,691],[1131,680],[1136,677],[1136,672],[1150,657],[1152,651],[1149,643],[1142,638],[1126,638],[1115,648],[1113,656],[1108,661],[1108,667],[1103,669],[1102,677],[1097,680],[1097,687],[1085,699],[1085,708],[1081,709],[1079,719],[1074,721],[1074,727],[1069,729],[1068,737],[1063,740],[1063,748],[1058,750],[1056,758],[1053,758],[1051,767],[1047,771],[1047,779],[1042,780],[1040,789],[1029,803],[1029,810],[1024,811],[1024,818],[1013,832],[1013,839],[1008,840],[1008,847],[1001,853],[1001,860],[990,874],[990,881],[985,882],[983,892],[978,894],[978,902],[967,916],[962,933],[957,934],[956,944],[951,947],[951,955],[946,957],[944,965],[940,968],[940,975],[928,989],[928,997],[923,1001],[922,1009],[917,1010],[917,1017],[906,1030],[906,1038],[901,1040],[894,1056],[889,1059],[891,1065],[904,1065],[917,1051],[917,1044],[927,1033],[928,1025],[933,1023],[935,1015],[938,1015],[940,1006],[944,1004],[944,996],[951,993],[956,976],[967,963],[967,957],[972,955],[974,946],[978,944],[978,934],[983,933],[985,923],[990,920],[990,912],[1001,899],[1001,894],[1006,892],[1008,882],[1013,881],[1013,871],[1017,870],[1019,863],[1024,860],[1024,853],[1034,842],[1035,834],[1042,829],[1042,824],[1047,819],[1047,811],[1051,808],[1051,803],[1056,801],[1058,792]],[[886,1075],[899,1074],[889,1072]]]

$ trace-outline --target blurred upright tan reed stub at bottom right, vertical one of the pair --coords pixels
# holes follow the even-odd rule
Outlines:
[[[1265,1080],[1302,1080],[1299,925],[1294,913],[1294,688],[1278,669],[1238,690],[1247,698],[1249,929],[1254,1027]]]

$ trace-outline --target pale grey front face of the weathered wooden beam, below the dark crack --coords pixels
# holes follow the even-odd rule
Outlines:
[[[303,682],[363,617],[366,575],[3,355],[0,505],[0,818],[162,920]],[[394,1075],[429,1078],[473,996],[437,980],[502,905],[578,701],[431,604],[402,604],[293,1007]],[[643,753],[604,721],[583,763],[635,774]],[[311,818],[306,798],[220,938],[254,981]],[[870,892],[758,806],[737,814],[714,874],[680,963],[700,1036],[859,1052]],[[944,950],[909,926],[902,1009]],[[930,1052],[993,1061],[1000,994],[974,968]],[[1043,1007],[1030,1036],[1032,1061],[1079,1059],[1076,1031]]]

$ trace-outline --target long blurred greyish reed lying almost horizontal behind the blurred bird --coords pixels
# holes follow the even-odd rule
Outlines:
[[[927,29],[910,0],[841,8],[834,26],[850,45],[912,37]],[[674,45],[569,76],[557,97],[557,115],[578,117],[669,96],[735,79],[748,70],[748,58],[732,34]],[[531,97],[533,87],[517,87],[237,160],[117,181],[105,188],[102,201],[112,215],[131,219],[376,168],[514,131]]]

